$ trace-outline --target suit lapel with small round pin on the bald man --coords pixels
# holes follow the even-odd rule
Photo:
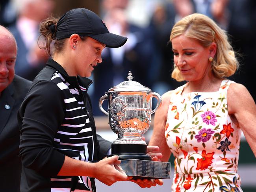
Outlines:
[[[6,126],[7,120],[13,110],[15,100],[13,98],[14,88],[11,83],[2,93],[0,97],[0,134]],[[10,109],[6,109],[6,105],[9,105]]]

